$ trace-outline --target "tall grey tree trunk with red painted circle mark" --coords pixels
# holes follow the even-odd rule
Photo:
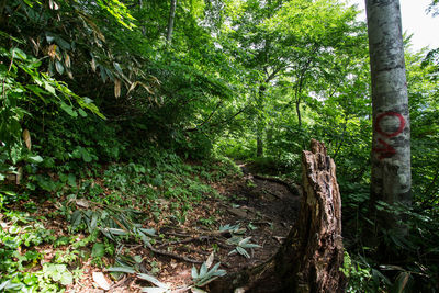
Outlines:
[[[371,211],[376,201],[412,203],[410,123],[398,0],[365,0],[372,80]],[[397,227],[380,213],[379,223]],[[403,228],[401,229],[403,230]]]

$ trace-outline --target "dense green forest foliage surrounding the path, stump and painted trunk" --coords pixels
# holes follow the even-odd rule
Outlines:
[[[299,182],[301,151],[316,138],[337,165],[349,291],[437,291],[438,49],[413,52],[406,40],[414,202],[378,209],[403,215],[409,233],[376,234],[382,247],[371,247],[362,240],[374,225],[369,54],[357,9],[338,0],[181,0],[167,40],[170,2],[0,0],[0,209],[12,223],[0,234],[0,288],[56,292],[80,273],[65,264],[81,250],[27,270],[42,258],[32,246],[56,237],[38,226],[50,215],[29,218],[11,210],[16,203],[63,199],[71,221],[71,194],[120,209],[143,194],[133,202],[154,216],[165,196],[180,223],[214,193],[205,182],[233,173],[217,157]],[[105,202],[94,199],[105,190],[93,177],[113,191]],[[86,211],[71,230],[89,229],[80,247],[98,237],[93,227],[113,224]],[[114,250],[109,240],[105,249]]]

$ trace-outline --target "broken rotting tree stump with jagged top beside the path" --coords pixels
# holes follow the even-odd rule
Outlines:
[[[215,281],[211,292],[344,292],[341,199],[334,160],[312,140],[302,157],[303,196],[296,223],[278,253]]]

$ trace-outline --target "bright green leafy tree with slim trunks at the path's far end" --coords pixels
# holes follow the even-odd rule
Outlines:
[[[301,126],[301,108],[309,92],[315,91],[311,88],[312,81],[331,76],[333,57],[352,47],[348,40],[358,35],[357,11],[331,0],[246,0],[230,7],[235,14],[229,15],[229,27],[225,32],[228,40],[235,41],[230,55],[254,72],[249,83],[256,88],[257,156],[261,156],[268,120],[266,109],[274,100],[270,97],[273,88],[289,77],[288,87],[293,89],[289,105],[295,105]]]

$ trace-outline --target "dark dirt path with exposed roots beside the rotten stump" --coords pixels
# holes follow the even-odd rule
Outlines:
[[[221,261],[221,269],[227,273],[257,266],[272,257],[281,246],[294,223],[300,196],[291,191],[294,187],[280,183],[278,180],[251,174],[251,170],[243,165],[244,177],[214,185],[221,199],[206,199],[194,206],[187,215],[187,222],[156,226],[161,239],[154,245],[157,250],[142,245],[131,247],[133,256],[142,256],[140,271],[155,277],[173,289],[191,284],[191,269],[200,268],[207,257],[215,252],[215,263]],[[219,233],[221,228],[234,226],[235,232]],[[230,255],[236,245],[230,238],[251,237],[250,243],[260,247],[246,249],[248,256]],[[195,262],[195,263],[194,263]],[[82,286],[71,286],[67,292],[103,292],[93,288],[91,271],[82,280]],[[147,282],[135,275],[125,275],[120,281],[111,281],[108,292],[140,292],[149,286]],[[209,291],[209,286],[207,286]],[[177,291],[177,292],[185,292]]]

